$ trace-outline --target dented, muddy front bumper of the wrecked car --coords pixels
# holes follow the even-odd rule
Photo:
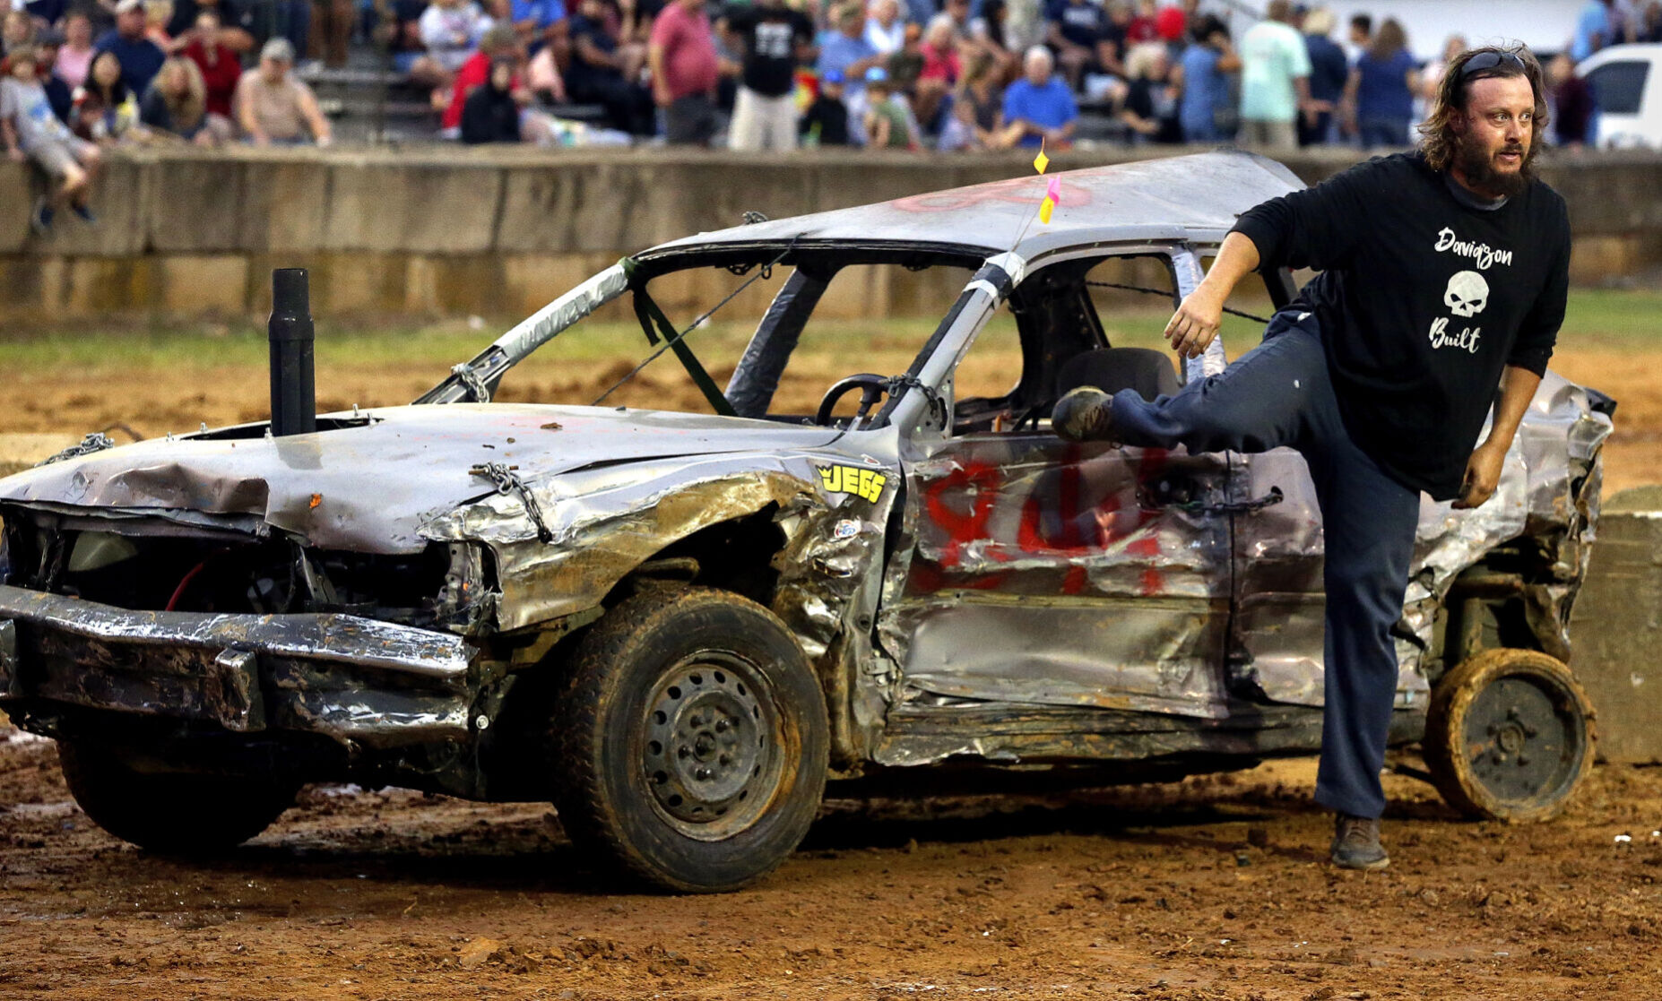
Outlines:
[[[0,585],[0,708],[427,742],[465,737],[472,657],[460,637],[356,615],[133,612]]]

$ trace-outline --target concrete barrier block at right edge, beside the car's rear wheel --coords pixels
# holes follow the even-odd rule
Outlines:
[[[1649,496],[1645,496],[1649,492]],[[1634,497],[1629,497],[1634,494]],[[1597,712],[1599,757],[1662,762],[1662,491],[1617,494],[1599,519],[1571,617],[1571,668]],[[1624,500],[1625,499],[1625,500]],[[1630,510],[1634,500],[1649,510]]]

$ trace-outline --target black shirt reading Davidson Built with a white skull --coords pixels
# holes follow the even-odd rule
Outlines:
[[[1320,268],[1295,299],[1321,323],[1345,426],[1401,484],[1459,496],[1501,369],[1546,372],[1569,289],[1569,214],[1542,181],[1464,205],[1419,153],[1360,163],[1240,218],[1261,268]]]

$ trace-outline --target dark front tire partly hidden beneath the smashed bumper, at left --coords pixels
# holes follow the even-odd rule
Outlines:
[[[224,851],[271,826],[297,786],[254,777],[140,772],[108,748],[58,742],[63,780],[103,830],[146,851]]]

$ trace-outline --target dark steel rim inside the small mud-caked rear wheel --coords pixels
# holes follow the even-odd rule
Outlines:
[[[1509,805],[1556,800],[1587,753],[1576,697],[1536,673],[1506,673],[1484,685],[1466,708],[1461,737],[1473,780]]]

